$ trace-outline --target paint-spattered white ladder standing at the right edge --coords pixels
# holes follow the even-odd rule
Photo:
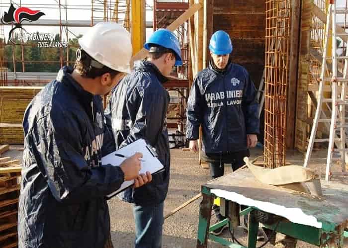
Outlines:
[[[311,157],[314,142],[329,142],[328,147],[328,157],[325,171],[325,180],[330,180],[332,175],[348,175],[346,171],[346,130],[348,129],[348,123],[346,123],[346,105],[348,105],[347,94],[347,69],[348,69],[348,48],[346,46],[346,55],[337,56],[337,44],[336,37],[343,37],[343,41],[347,43],[348,33],[343,28],[336,25],[336,14],[348,14],[348,9],[337,9],[335,0],[330,0],[326,30],[325,30],[325,40],[323,49],[323,61],[321,67],[320,81],[319,81],[319,93],[318,93],[318,105],[315,112],[315,118],[313,122],[313,127],[311,131],[311,136],[309,144],[307,147],[307,153],[304,161],[304,167],[307,167]],[[340,33],[337,33],[339,29]],[[331,32],[330,32],[331,31]],[[332,56],[328,57],[328,45],[329,36],[332,36]],[[347,43],[348,44],[348,43]],[[331,75],[328,70],[328,60],[332,60],[332,71]],[[338,60],[344,61],[344,72],[341,77],[338,77],[337,64]],[[329,75],[329,77],[327,77]],[[331,76],[331,77],[330,77]],[[324,88],[331,86],[332,96],[331,98],[324,98]],[[325,114],[322,112],[323,103],[331,103],[331,119],[325,118]],[[323,116],[322,116],[323,115]],[[316,139],[316,133],[318,129],[319,122],[330,123],[330,136],[328,139]],[[336,144],[336,148],[335,148]],[[341,162],[341,172],[331,172],[330,166],[333,164],[334,154],[339,154],[339,161]]]

